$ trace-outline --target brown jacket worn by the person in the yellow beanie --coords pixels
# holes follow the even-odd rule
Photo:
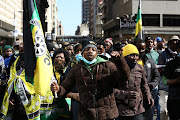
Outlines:
[[[130,77],[127,81],[118,84],[119,89],[115,89],[115,97],[120,116],[135,116],[145,111],[143,107],[143,97],[150,98],[151,93],[147,84],[144,68],[136,64],[131,69]],[[136,99],[128,99],[128,91],[139,93]]]

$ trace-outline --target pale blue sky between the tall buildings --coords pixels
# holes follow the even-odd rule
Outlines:
[[[64,35],[75,35],[82,21],[82,0],[57,0],[57,8]]]

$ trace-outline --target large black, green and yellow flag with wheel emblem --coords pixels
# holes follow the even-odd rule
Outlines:
[[[35,0],[23,3],[23,41],[26,79],[35,92],[45,96],[52,74],[52,60],[47,50]]]

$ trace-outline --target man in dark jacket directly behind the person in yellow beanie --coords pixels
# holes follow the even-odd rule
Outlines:
[[[158,69],[156,68],[156,65],[154,64],[154,62],[151,59],[149,59],[145,54],[145,50],[146,50],[145,42],[143,40],[138,39],[135,42],[135,45],[139,51],[139,60],[137,61],[137,63],[142,65],[146,71],[146,78],[147,78],[148,86],[150,88],[151,95],[156,103],[156,102],[158,102],[157,87],[158,87],[159,81],[160,81],[160,74],[159,74]],[[143,103],[144,103],[144,107],[145,107],[145,112],[143,113],[144,120],[153,120],[153,114],[154,114],[153,109],[154,108],[151,108],[148,105],[148,101],[146,101],[146,99],[144,99]]]

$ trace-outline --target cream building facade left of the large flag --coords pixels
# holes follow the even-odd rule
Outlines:
[[[23,0],[0,0],[0,41],[12,45],[23,36]]]

